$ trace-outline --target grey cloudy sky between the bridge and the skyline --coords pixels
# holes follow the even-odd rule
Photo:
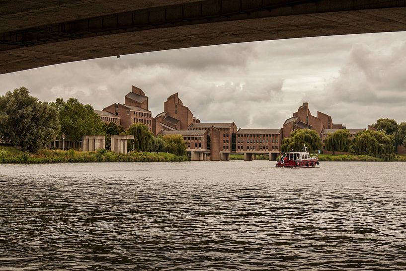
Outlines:
[[[77,97],[101,109],[146,92],[153,116],[175,92],[202,122],[279,128],[303,102],[362,128],[406,120],[406,32],[262,41],[87,60],[0,75],[43,101]]]

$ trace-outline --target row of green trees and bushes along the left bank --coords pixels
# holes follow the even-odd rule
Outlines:
[[[72,142],[81,141],[84,135],[105,135],[106,148],[110,148],[111,135],[134,135],[128,143],[129,150],[186,154],[182,136],[155,137],[141,123],[125,131],[121,125],[103,122],[90,104],[82,104],[76,98],[41,102],[24,87],[0,96],[0,141],[35,153],[54,137],[63,135]]]

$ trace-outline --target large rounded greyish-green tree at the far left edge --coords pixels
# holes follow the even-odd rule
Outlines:
[[[37,152],[56,135],[58,120],[55,108],[21,87],[0,96],[0,124],[3,140]]]

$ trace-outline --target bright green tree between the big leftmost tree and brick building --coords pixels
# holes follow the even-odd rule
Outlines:
[[[52,105],[58,111],[61,125],[60,135],[71,141],[80,141],[84,135],[104,135],[103,121],[90,104],[82,104],[77,98],[66,102],[57,98]]]

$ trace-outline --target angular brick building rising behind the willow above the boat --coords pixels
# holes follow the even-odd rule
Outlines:
[[[289,137],[292,131],[296,129],[306,128],[315,130],[320,136],[323,129],[333,128],[331,116],[319,111],[317,112],[317,117],[312,116],[309,110],[309,103],[304,102],[298,111],[293,113],[293,117],[288,118],[283,123],[283,138]]]

